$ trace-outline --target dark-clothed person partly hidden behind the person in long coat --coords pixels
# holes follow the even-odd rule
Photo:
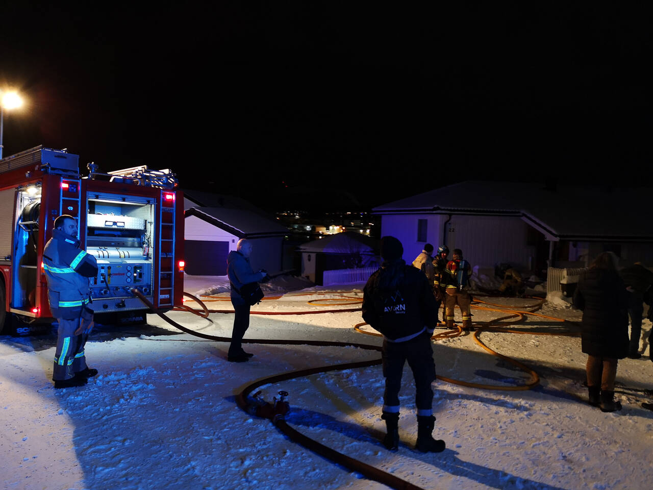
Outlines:
[[[630,345],[628,357],[639,359],[639,337],[642,333],[642,317],[644,316],[644,295],[653,287],[653,272],[646,269],[641,262],[635,262],[630,267],[620,270],[619,275],[628,290],[628,314],[630,316]],[[650,350],[653,360],[653,349]]]

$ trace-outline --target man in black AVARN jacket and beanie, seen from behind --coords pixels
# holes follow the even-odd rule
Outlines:
[[[404,248],[394,237],[381,238],[381,269],[374,272],[363,290],[362,316],[372,328],[383,334],[383,415],[387,435],[383,444],[391,451],[399,445],[399,389],[404,363],[415,377],[417,404],[417,444],[422,452],[440,452],[443,440],[434,440],[432,432],[433,390],[436,379],[431,336],[438,323],[438,308],[432,285],[420,271],[406,265]]]

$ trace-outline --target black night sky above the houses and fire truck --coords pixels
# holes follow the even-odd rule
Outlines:
[[[470,179],[651,185],[646,10],[62,4],[3,7],[0,87],[27,99],[4,156],[171,168],[268,210]]]

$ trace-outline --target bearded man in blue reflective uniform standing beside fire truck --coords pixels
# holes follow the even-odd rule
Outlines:
[[[84,345],[93,328],[89,278],[97,276],[97,261],[80,250],[77,222],[63,214],[54,221],[52,238],[43,250],[48,301],[59,322],[52,380],[55,388],[81,386],[97,374],[86,365]]]

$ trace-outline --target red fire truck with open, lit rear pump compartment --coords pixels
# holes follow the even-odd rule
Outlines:
[[[100,172],[78,155],[36,146],[0,160],[0,329],[27,335],[52,321],[42,253],[54,220],[78,220],[82,248],[99,268],[91,278],[99,323],[142,323],[148,307],[182,304],[183,195],[169,170]]]

